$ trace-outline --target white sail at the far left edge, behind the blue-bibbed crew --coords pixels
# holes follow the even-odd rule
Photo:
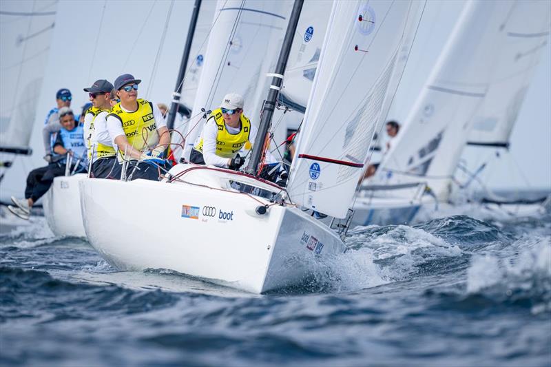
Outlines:
[[[29,147],[56,9],[56,1],[0,2],[1,147]]]

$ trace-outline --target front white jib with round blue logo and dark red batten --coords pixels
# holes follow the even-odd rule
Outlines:
[[[344,218],[382,116],[410,1],[335,1],[288,187],[293,202]],[[337,198],[337,200],[335,200]]]

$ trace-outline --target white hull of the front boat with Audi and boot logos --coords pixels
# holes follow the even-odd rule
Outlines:
[[[194,166],[171,172],[185,167]],[[268,200],[222,188],[259,181],[208,169],[185,180],[196,184],[81,181],[90,244],[118,269],[171,269],[252,293],[297,284],[344,251],[333,231],[300,209],[272,205],[260,215],[255,209]]]

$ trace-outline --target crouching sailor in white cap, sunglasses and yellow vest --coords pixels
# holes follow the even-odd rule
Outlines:
[[[220,108],[214,109],[205,123],[189,160],[197,165],[238,170],[245,162],[238,151],[256,137],[256,127],[243,114],[243,97],[229,93],[224,96]]]

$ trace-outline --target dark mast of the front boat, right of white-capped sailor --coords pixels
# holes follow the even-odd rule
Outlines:
[[[262,119],[260,120],[260,125],[258,127],[258,134],[256,134],[256,143],[251,153],[249,165],[247,166],[247,169],[245,169],[247,174],[256,175],[256,171],[258,170],[258,163],[260,162],[262,151],[264,150],[264,140],[266,140],[266,134],[271,125],[273,109],[275,108],[275,103],[278,100],[278,94],[281,90],[281,85],[283,82],[283,73],[285,72],[285,67],[287,67],[287,59],[289,59],[291,45],[293,45],[295,30],[297,28],[298,19],[300,18],[300,12],[302,10],[302,3],[304,3],[304,0],[295,0],[295,3],[293,4],[293,11],[291,12],[289,24],[287,25],[287,31],[285,32],[285,37],[281,46],[278,64],[275,66],[275,72],[271,75],[273,76],[273,79],[268,92],[268,98],[266,99],[266,102],[264,102]]]

